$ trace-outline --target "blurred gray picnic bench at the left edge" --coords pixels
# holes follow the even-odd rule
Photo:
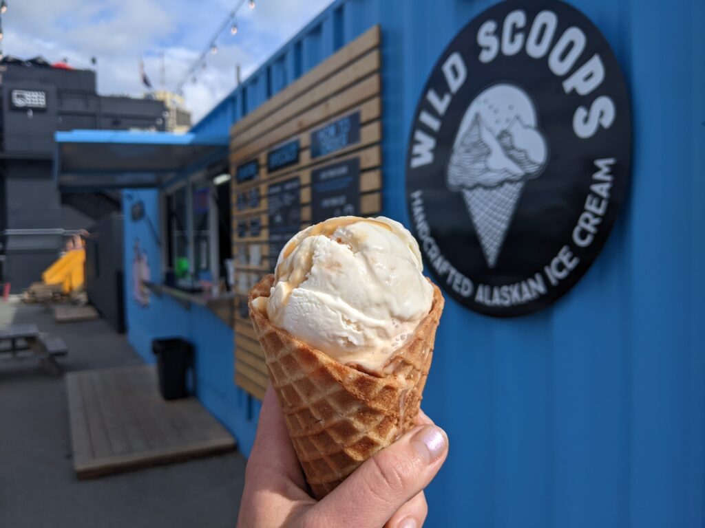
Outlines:
[[[9,346],[8,346],[9,345]],[[60,373],[61,368],[56,358],[66,356],[68,347],[61,337],[54,334],[42,334],[37,325],[17,324],[0,328],[0,354],[10,354],[12,358],[25,357],[24,352],[39,358],[53,373]]]

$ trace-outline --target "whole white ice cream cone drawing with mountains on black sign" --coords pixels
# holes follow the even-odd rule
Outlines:
[[[494,84],[472,100],[448,163],[451,191],[462,192],[487,265],[502,251],[526,180],[543,172],[548,146],[536,109],[515,84]]]

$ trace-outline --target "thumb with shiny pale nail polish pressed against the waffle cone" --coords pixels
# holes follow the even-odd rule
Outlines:
[[[317,521],[313,525],[379,528],[428,486],[447,454],[443,429],[413,429],[375,453],[319,502],[310,512]]]

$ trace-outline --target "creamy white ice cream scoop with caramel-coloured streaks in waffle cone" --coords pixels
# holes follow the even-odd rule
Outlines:
[[[266,313],[341,363],[381,369],[429,313],[433,287],[419,246],[388,218],[331,218],[279,255]],[[255,306],[264,310],[264,298]]]

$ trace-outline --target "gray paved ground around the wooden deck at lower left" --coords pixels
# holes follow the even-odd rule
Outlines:
[[[0,301],[0,325],[13,322],[63,337],[63,372],[142,364],[103,320],[57,324],[42,306]],[[0,359],[0,527],[232,528],[244,476],[245,458],[227,453],[80,481],[64,377]]]

